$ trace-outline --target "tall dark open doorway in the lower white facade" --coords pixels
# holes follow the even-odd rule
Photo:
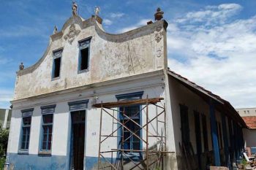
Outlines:
[[[86,110],[71,112],[72,131],[71,131],[71,169],[83,170]]]

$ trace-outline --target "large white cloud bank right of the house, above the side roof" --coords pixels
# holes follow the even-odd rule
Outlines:
[[[171,23],[167,29],[168,66],[234,107],[255,107],[256,16],[232,20],[241,8],[238,4],[208,6]],[[214,13],[221,19],[211,20]],[[206,22],[191,21],[198,18]]]

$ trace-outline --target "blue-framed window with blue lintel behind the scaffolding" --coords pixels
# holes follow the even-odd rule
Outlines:
[[[126,93],[126,94],[120,94],[116,95],[116,98],[118,101],[127,101],[127,100],[135,100],[140,99],[143,96],[143,91],[135,92],[135,93]],[[119,108],[119,120],[121,123],[123,123],[127,128],[129,128],[130,131],[135,133],[137,136],[142,136],[142,131],[140,129],[141,123],[141,112],[140,112],[141,106],[140,105],[133,105],[129,107],[120,107]],[[123,115],[124,112],[124,116]],[[131,118],[134,122],[131,120],[128,120],[128,117]],[[138,125],[136,124],[138,123]],[[124,128],[124,131],[118,131],[118,134],[123,134],[121,136],[124,136],[124,138],[121,138],[118,141],[118,146],[120,146],[121,149],[124,150],[141,150],[142,143],[141,140],[138,139],[137,136],[133,135],[130,131],[127,131],[126,128]],[[121,146],[121,141],[124,141],[123,146]]]

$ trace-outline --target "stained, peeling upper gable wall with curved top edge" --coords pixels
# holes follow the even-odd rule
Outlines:
[[[75,36],[70,34],[72,24]],[[34,66],[18,72],[14,100],[165,69],[166,27],[160,20],[113,35],[105,33],[94,18],[69,18],[59,33],[50,36],[45,55]],[[89,72],[78,74],[78,42],[89,37]],[[60,78],[52,80],[53,50],[59,48],[63,48]]]

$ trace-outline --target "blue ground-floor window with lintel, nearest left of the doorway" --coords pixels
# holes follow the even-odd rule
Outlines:
[[[42,109],[42,143],[41,151],[50,152],[53,138],[53,113],[56,105],[41,107]]]

